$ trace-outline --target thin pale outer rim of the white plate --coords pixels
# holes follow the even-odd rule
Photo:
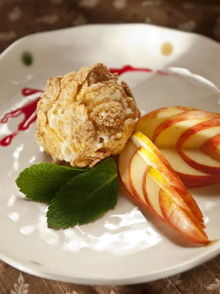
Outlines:
[[[198,39],[203,39],[207,41],[210,44],[213,44],[214,46],[218,46],[220,49],[220,43],[217,42],[216,40],[211,39],[210,37],[195,33],[195,32],[186,32],[186,31],[180,31],[178,29],[174,28],[168,28],[168,27],[163,27],[159,25],[149,25],[149,24],[144,24],[144,23],[135,23],[135,24],[86,24],[86,25],[79,25],[79,26],[73,26],[73,27],[67,27],[67,28],[60,28],[60,29],[55,29],[55,30],[49,30],[49,31],[43,31],[43,32],[37,32],[37,33],[32,33],[29,35],[26,35],[15,42],[13,42],[11,45],[9,45],[6,49],[4,49],[0,53],[0,59],[4,58],[6,54],[8,54],[11,50],[16,49],[16,47],[31,38],[34,38],[36,36],[41,36],[41,35],[47,35],[47,34],[56,34],[60,32],[65,32],[65,31],[71,31],[71,30],[79,30],[83,28],[92,28],[92,27],[116,27],[116,26],[148,26],[148,27],[156,27],[157,29],[162,29],[166,31],[175,31],[179,34],[182,35],[191,35],[194,36]],[[219,241],[220,242],[220,241]],[[186,270],[191,270],[193,268],[196,268],[197,266],[207,262],[208,260],[216,257],[217,255],[220,254],[220,245],[219,242],[217,244],[213,245],[212,250],[210,250],[208,253],[204,252],[200,254],[196,258],[192,258],[191,260],[188,260],[186,262],[180,263],[175,266],[168,267],[164,270],[155,270],[152,271],[151,273],[143,274],[143,275],[132,275],[128,277],[114,277],[114,278],[108,278],[99,275],[99,277],[80,277],[77,275],[71,276],[71,275],[65,275],[65,274],[54,274],[54,273],[49,273],[49,271],[44,271],[41,270],[40,267],[37,268],[37,266],[34,265],[27,265],[23,263],[22,261],[19,261],[17,259],[12,258],[9,254],[6,252],[3,252],[0,250],[0,259],[5,262],[6,264],[18,269],[22,270],[25,273],[35,275],[37,277],[41,278],[46,278],[50,280],[56,280],[56,281],[62,281],[62,282],[69,282],[69,283],[77,283],[77,284],[84,284],[84,285],[132,285],[132,284],[138,284],[138,283],[146,283],[162,278],[169,277],[174,274],[178,274],[181,272],[184,272]]]

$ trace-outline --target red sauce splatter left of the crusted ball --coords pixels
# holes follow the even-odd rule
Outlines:
[[[43,92],[42,90],[30,89],[30,88],[24,88],[22,90],[22,94],[24,96],[30,96],[35,93],[41,94],[42,92]],[[16,117],[20,116],[21,114],[24,114],[24,120],[18,125],[17,130],[14,131],[12,134],[2,138],[0,140],[0,146],[8,146],[11,143],[12,139],[20,131],[24,131],[24,130],[28,129],[30,124],[33,123],[34,121],[36,121],[36,118],[37,118],[36,108],[37,108],[37,102],[39,99],[40,99],[40,96],[36,100],[24,105],[23,107],[6,113],[5,116],[0,120],[0,123],[7,123],[9,118],[16,118]]]

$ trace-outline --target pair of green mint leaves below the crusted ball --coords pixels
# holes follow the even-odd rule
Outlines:
[[[93,221],[117,203],[117,166],[110,157],[90,170],[32,165],[19,174],[16,184],[26,197],[50,203],[48,223],[57,227]]]

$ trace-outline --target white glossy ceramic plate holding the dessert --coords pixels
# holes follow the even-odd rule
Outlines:
[[[171,42],[170,55],[161,46]],[[163,47],[164,49],[164,47]],[[33,55],[25,66],[24,51]],[[92,25],[25,37],[0,56],[0,117],[39,94],[50,76],[103,62],[151,72],[120,76],[143,113],[162,106],[219,111],[220,47],[195,34],[152,25]],[[163,70],[173,74],[159,74]],[[0,124],[1,138],[16,130],[23,115]],[[147,219],[125,197],[98,221],[66,230],[47,227],[47,205],[25,199],[15,184],[19,172],[48,160],[34,142],[35,123],[0,147],[0,258],[28,273],[83,284],[130,284],[159,279],[195,267],[220,253],[220,242],[188,244],[153,216]],[[192,190],[211,239],[220,238],[220,186]]]

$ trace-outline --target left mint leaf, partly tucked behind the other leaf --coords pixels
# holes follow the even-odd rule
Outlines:
[[[27,198],[50,203],[63,185],[82,172],[85,170],[41,163],[24,169],[15,182]]]

